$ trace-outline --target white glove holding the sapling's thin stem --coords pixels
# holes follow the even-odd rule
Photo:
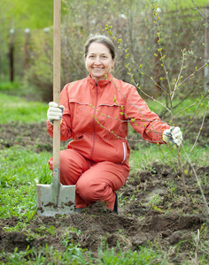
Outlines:
[[[182,132],[180,128],[171,127],[170,129],[166,129],[163,132],[163,140],[166,141],[166,143],[172,142],[180,147],[182,144]]]

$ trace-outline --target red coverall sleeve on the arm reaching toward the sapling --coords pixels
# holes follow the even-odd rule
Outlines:
[[[125,109],[130,125],[137,133],[141,134],[144,140],[153,143],[164,143],[162,133],[170,126],[162,122],[159,116],[149,109],[133,86],[128,89],[128,100]]]

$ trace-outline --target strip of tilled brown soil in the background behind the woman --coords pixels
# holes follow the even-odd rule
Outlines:
[[[179,125],[184,124],[183,120],[179,120]],[[189,129],[183,134],[185,140],[194,142],[202,125],[202,119],[196,118],[193,120]],[[205,147],[208,145],[209,136],[209,116],[205,117],[205,123],[198,137],[198,145]],[[131,148],[136,148],[137,144],[141,142],[139,134],[132,135],[129,141]],[[61,147],[66,148],[66,141],[61,142]],[[21,124],[14,122],[11,124],[0,124],[0,149],[11,148],[20,145],[22,147],[29,146],[35,152],[42,152],[43,150],[52,150],[52,140],[46,130],[46,122],[40,124]]]

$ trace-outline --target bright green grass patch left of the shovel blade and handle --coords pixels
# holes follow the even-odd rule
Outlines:
[[[35,182],[42,182],[42,179],[50,182],[51,172],[47,163],[50,156],[47,152],[35,154],[25,148],[0,150],[1,218],[18,216],[29,222],[35,215]]]

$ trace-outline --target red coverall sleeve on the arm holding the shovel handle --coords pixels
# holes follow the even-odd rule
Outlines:
[[[62,123],[60,125],[60,140],[68,140],[72,136],[72,131],[71,112],[67,95],[67,85],[63,88],[60,94],[60,104],[65,107],[62,117]],[[53,137],[53,125],[50,124],[49,120],[47,121],[47,131],[50,134],[50,137]]]

